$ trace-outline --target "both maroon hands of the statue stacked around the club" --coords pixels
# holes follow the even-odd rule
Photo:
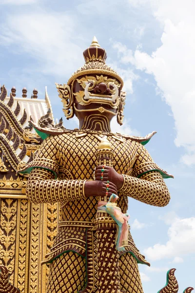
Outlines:
[[[112,193],[117,195],[117,190],[123,185],[123,176],[118,174],[114,168],[108,166],[104,166],[103,169],[102,166],[96,167],[94,179],[94,181],[87,180],[85,182],[84,193],[86,197],[105,195],[110,197]]]

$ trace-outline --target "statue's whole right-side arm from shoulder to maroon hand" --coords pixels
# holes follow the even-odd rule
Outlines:
[[[164,207],[170,201],[169,190],[161,174],[169,176],[160,169],[144,146],[137,143],[137,159],[131,175],[119,174],[114,168],[105,166],[104,178],[116,184],[119,193],[133,197],[143,203]],[[100,180],[101,166],[96,168],[95,177]]]

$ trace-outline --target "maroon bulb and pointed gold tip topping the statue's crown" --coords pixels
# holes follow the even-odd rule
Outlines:
[[[86,63],[91,61],[105,62],[107,57],[106,50],[101,48],[96,37],[93,38],[89,48],[84,50],[83,56]]]

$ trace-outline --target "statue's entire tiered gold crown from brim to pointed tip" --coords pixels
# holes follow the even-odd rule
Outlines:
[[[96,37],[94,37],[89,48],[84,50],[83,56],[86,63],[82,67],[78,68],[75,73],[73,73],[67,83],[68,85],[70,85],[71,82],[79,76],[95,73],[112,76],[120,81],[123,86],[123,80],[118,73],[105,63],[107,57],[106,50],[101,48]]]

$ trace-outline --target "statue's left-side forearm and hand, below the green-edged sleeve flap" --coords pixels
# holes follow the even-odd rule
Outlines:
[[[33,203],[64,202],[89,196],[104,196],[106,181],[57,180],[52,170],[35,167],[30,172],[26,195]],[[117,194],[117,187],[110,183],[108,195]]]

